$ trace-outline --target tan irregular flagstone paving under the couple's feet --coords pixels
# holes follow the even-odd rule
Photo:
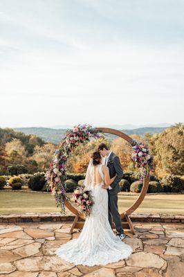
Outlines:
[[[75,266],[55,255],[59,245],[77,238],[71,222],[0,224],[0,276],[12,277],[182,277],[184,224],[138,223],[127,232],[129,258],[109,265]]]

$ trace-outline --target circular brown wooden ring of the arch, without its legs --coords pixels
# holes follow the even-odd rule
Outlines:
[[[131,143],[131,141],[133,141],[133,139],[131,139],[130,136],[128,136],[127,134],[125,134],[123,132],[120,132],[116,129],[106,128],[106,127],[97,127],[97,129],[98,129],[99,132],[109,133],[109,134],[114,134],[116,136],[120,136],[120,138],[125,139],[125,141],[127,141],[128,143]],[[136,199],[134,204],[132,204],[127,209],[127,211],[125,211],[121,214],[122,219],[125,217],[125,214],[131,215],[131,213],[134,213],[134,211],[136,211],[138,206],[140,206],[143,199],[145,198],[148,186],[149,186],[149,177],[145,177],[143,179],[143,186],[142,186],[142,190],[140,192],[140,195],[138,196],[138,198]],[[68,208],[68,210],[70,210],[75,215],[78,215],[80,218],[85,219],[85,215],[83,213],[80,213],[70,202],[68,202],[68,200],[66,198],[64,199],[64,202],[65,202],[65,206],[66,206],[66,208]]]

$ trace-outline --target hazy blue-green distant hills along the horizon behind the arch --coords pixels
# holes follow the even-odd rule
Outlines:
[[[112,126],[109,126],[112,127]],[[122,132],[128,135],[138,134],[143,136],[145,133],[154,134],[163,132],[167,127],[141,127],[137,129],[120,129]],[[23,132],[24,134],[35,134],[39,136],[46,142],[51,143],[59,143],[62,140],[64,134],[66,133],[66,129],[52,129],[46,127],[22,127],[22,128],[14,128],[16,131]],[[118,128],[116,128],[118,129]],[[112,140],[115,139],[116,136],[111,134],[107,134],[107,137]]]

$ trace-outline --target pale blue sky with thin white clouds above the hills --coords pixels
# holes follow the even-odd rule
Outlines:
[[[0,127],[183,122],[183,0],[0,0]]]

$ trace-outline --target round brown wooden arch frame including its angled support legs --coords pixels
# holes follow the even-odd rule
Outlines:
[[[133,139],[131,139],[130,136],[128,136],[127,134],[120,132],[116,129],[111,129],[111,128],[106,128],[106,127],[97,127],[99,132],[103,132],[103,133],[109,133],[109,134],[114,134],[116,136],[119,136],[122,139],[125,139],[125,141],[127,141],[128,143],[131,143],[133,141]],[[142,203],[143,199],[145,198],[145,195],[147,193],[147,189],[149,186],[149,177],[145,177],[143,179],[143,186],[142,186],[142,190],[140,192],[140,195],[138,196],[138,198],[136,199],[136,201],[134,202],[134,204],[132,204],[127,211],[121,213],[121,218],[122,221],[127,220],[127,222],[125,222],[125,227],[129,226],[129,229],[131,229],[132,233],[134,233],[134,227],[131,224],[131,220],[129,218],[129,215],[131,215],[131,213],[134,213],[134,211],[136,211],[136,209],[138,208],[138,206],[140,206],[140,204]],[[81,228],[83,226],[83,222],[78,222],[78,220],[81,218],[82,220],[85,219],[85,215],[80,213],[80,211],[77,211],[77,209],[70,203],[68,202],[68,200],[65,198],[64,199],[65,202],[65,206],[66,208],[68,208],[68,210],[70,210],[72,213],[74,213],[74,215],[76,215],[75,220],[73,222],[73,226],[71,227],[71,231],[70,233],[72,233],[74,228]]]

